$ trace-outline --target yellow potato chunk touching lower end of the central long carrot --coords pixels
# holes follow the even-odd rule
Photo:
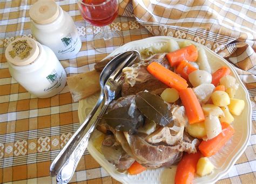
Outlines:
[[[199,139],[206,136],[206,129],[205,129],[204,122],[188,124],[186,127],[186,130],[191,136]]]

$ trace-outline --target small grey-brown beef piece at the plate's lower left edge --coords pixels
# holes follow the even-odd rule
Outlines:
[[[118,169],[128,169],[135,161],[134,158],[123,150],[113,135],[105,137],[101,148],[105,159],[114,164]]]

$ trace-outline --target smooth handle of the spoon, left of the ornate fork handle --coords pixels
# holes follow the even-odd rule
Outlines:
[[[60,151],[59,154],[57,155],[57,157],[52,161],[52,164],[50,166],[50,174],[51,174],[51,176],[55,176],[57,173],[59,173],[59,171],[63,167],[63,165],[66,164],[66,162],[67,162],[66,160],[68,158],[70,158],[69,160],[72,161],[71,153],[73,154],[75,149],[77,150],[76,153],[78,154],[79,147],[77,149],[77,145],[78,145],[78,143],[80,141],[83,140],[84,130],[87,128],[87,126],[89,125],[89,122],[91,121],[93,116],[96,114],[100,104],[103,101],[103,97],[104,97],[104,93],[103,93],[103,90],[102,90],[100,92],[100,96],[98,98],[98,101],[97,101],[95,107],[93,107],[93,109],[90,112],[90,114],[86,117],[84,123],[73,134],[73,136],[69,139],[68,143],[66,143],[66,145],[63,147],[62,151]],[[82,154],[83,154],[83,152],[82,152]]]

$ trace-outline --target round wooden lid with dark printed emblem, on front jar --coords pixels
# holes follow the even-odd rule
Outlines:
[[[17,38],[6,48],[5,58],[14,65],[25,66],[37,59],[39,51],[36,41],[32,38]]]

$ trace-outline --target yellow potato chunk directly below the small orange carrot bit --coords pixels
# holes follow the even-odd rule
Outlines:
[[[212,103],[219,107],[230,104],[230,97],[225,91],[214,91],[211,95]]]

